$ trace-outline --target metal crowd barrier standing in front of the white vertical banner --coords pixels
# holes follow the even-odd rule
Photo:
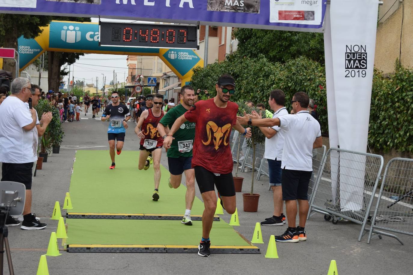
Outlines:
[[[361,240],[383,168],[383,157],[368,153],[330,148],[310,200],[309,212],[324,219],[340,218],[361,225]],[[373,196],[372,196],[373,194]]]

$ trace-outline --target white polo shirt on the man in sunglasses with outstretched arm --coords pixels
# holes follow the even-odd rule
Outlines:
[[[281,169],[313,171],[313,143],[321,136],[318,121],[309,111],[299,111],[278,119],[280,128],[285,131]]]

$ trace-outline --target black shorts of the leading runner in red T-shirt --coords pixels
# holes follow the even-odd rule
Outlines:
[[[195,166],[195,179],[197,180],[199,191],[202,193],[216,190],[223,197],[235,196],[234,179],[232,173],[220,174],[216,176],[202,166]]]

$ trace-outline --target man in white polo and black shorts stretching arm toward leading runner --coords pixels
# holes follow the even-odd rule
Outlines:
[[[309,96],[297,92],[292,97],[292,109],[295,115],[279,118],[259,119],[258,114],[237,117],[244,125],[260,127],[280,126],[284,131],[284,149],[282,152],[282,199],[287,209],[288,228],[285,233],[275,236],[278,242],[299,242],[307,240],[304,229],[309,211],[307,191],[312,173],[312,150],[323,146],[320,124],[307,107]],[[299,205],[299,226],[296,227],[297,201]]]

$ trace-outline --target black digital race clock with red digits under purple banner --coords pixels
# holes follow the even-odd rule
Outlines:
[[[100,46],[199,49],[198,26],[100,22]]]

